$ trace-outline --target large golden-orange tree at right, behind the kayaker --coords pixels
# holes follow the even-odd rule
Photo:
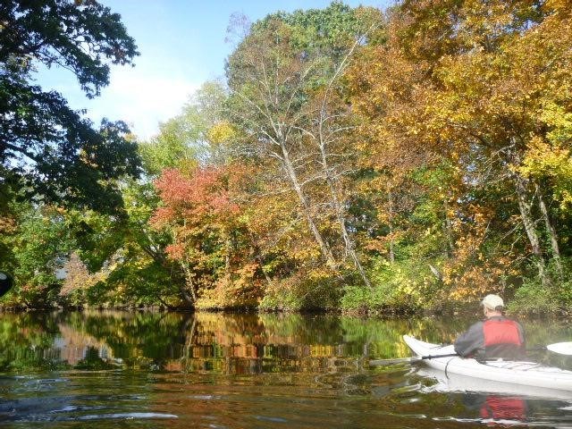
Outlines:
[[[551,136],[566,129],[570,108],[569,25],[558,2],[405,1],[391,14],[387,46],[366,48],[353,75],[355,105],[388,149],[385,161],[397,154],[416,156],[414,169],[454,167],[454,256],[467,251],[471,257],[457,262],[469,271],[499,264],[466,283],[464,294],[502,287],[502,273],[521,260],[517,243],[544,288],[548,259],[562,273],[553,202],[563,194],[551,173],[532,165],[563,165],[568,156]]]

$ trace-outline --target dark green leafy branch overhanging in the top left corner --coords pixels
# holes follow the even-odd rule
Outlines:
[[[0,5],[0,63],[32,57],[61,65],[77,76],[88,97],[109,83],[109,66],[129,64],[139,55],[120,15],[97,2],[4,1]]]

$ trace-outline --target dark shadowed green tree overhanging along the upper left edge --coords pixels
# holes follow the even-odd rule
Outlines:
[[[70,70],[88,97],[109,82],[109,63],[139,55],[120,15],[94,0],[0,4],[0,183],[55,203],[113,211],[114,180],[139,174],[122,122],[99,130],[55,91],[30,84],[37,63]]]

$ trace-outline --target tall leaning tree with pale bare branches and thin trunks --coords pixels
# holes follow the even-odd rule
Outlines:
[[[250,152],[273,169],[269,192],[293,192],[295,210],[332,273],[349,256],[366,283],[346,222],[341,178],[350,169],[341,163],[351,158],[344,134],[352,127],[336,85],[376,12],[332,3],[323,11],[269,15],[227,65],[229,114]]]

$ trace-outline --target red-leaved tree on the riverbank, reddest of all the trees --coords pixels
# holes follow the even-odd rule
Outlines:
[[[179,291],[189,307],[196,307],[205,291],[221,282],[226,284],[219,289],[224,292],[231,286],[234,297],[214,297],[218,305],[213,307],[245,305],[246,298],[252,305],[252,298],[257,298],[260,264],[250,251],[242,210],[231,199],[246,177],[230,164],[197,166],[187,172],[167,169],[156,181],[163,205],[151,223],[172,233],[166,253],[184,273]]]

